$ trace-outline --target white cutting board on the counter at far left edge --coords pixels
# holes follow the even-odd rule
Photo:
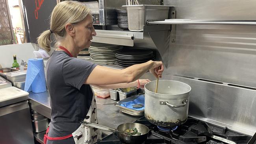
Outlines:
[[[0,89],[0,102],[19,98],[22,96],[28,96],[28,94],[28,92],[18,89],[17,87],[7,87],[4,89]]]

